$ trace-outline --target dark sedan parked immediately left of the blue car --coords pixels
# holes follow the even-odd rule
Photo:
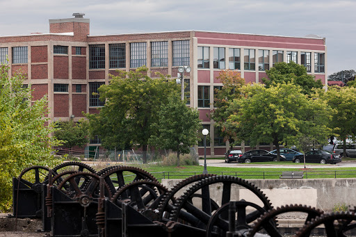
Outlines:
[[[264,149],[254,149],[238,156],[237,162],[251,163],[261,161],[277,161],[277,155]],[[286,161],[286,157],[281,156],[280,161]]]

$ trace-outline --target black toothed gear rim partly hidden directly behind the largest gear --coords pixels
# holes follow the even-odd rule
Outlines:
[[[164,219],[167,220],[169,218],[173,205],[176,203],[177,197],[175,197],[175,195],[177,195],[179,191],[183,192],[184,189],[188,188],[188,186],[193,185],[193,183],[212,176],[216,176],[216,174],[199,174],[184,179],[183,181],[177,183],[177,185],[175,185],[172,190],[170,190],[170,192],[166,193],[163,196],[162,201],[159,204],[159,222],[163,221]]]

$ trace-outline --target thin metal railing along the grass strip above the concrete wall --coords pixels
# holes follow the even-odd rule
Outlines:
[[[186,179],[202,172],[163,171],[152,173],[156,179]],[[242,179],[280,179],[282,171],[225,171],[209,174],[229,175]],[[356,170],[308,170],[303,171],[303,179],[356,178]]]

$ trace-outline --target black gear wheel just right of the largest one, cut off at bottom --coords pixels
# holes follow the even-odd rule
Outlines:
[[[296,204],[277,207],[277,209],[269,210],[267,213],[264,213],[264,215],[261,215],[261,217],[257,219],[257,222],[254,223],[252,229],[250,229],[248,236],[254,236],[254,234],[261,231],[261,229],[264,229],[269,236],[283,236],[283,233],[280,233],[280,230],[277,228],[275,220],[277,219],[277,215],[290,212],[306,213],[305,223],[323,214],[323,211],[311,206]]]

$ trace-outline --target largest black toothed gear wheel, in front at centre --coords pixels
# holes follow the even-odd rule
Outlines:
[[[220,184],[220,185],[219,185]],[[215,176],[209,177],[206,179],[202,179],[195,183],[191,188],[189,188],[184,195],[177,199],[177,203],[173,206],[173,211],[170,215],[170,220],[184,222],[184,224],[188,224],[194,226],[199,229],[207,230],[207,224],[212,216],[212,208],[211,208],[211,199],[216,203],[223,206],[230,201],[239,201],[234,199],[232,194],[234,194],[237,186],[241,186],[246,188],[252,192],[254,196],[260,200],[261,208],[265,211],[273,209],[273,206],[270,204],[270,201],[266,198],[266,195],[261,192],[259,188],[254,186],[252,183],[240,179],[238,177],[230,177],[230,176]],[[216,193],[212,193],[211,190],[222,190],[222,195],[219,197],[216,196]],[[195,204],[190,202],[191,196],[195,195],[195,193],[200,193],[202,196],[199,199],[200,203]],[[220,193],[220,192],[219,192]],[[240,192],[243,193],[243,192]],[[255,198],[254,198],[255,200]],[[242,200],[248,201],[248,200]],[[257,204],[258,205],[258,204]],[[201,209],[197,208],[200,206]],[[254,211],[249,213],[249,220],[252,222],[256,220],[261,215],[260,211]]]

